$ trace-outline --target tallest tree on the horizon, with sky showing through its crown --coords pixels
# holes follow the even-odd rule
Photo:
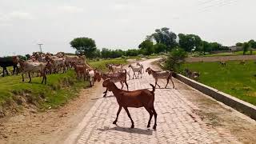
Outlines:
[[[154,34],[146,37],[147,40],[155,40],[157,43],[162,43],[167,46],[168,50],[173,49],[177,46],[176,38],[177,35],[170,31],[169,28],[163,27],[162,29],[155,30]]]

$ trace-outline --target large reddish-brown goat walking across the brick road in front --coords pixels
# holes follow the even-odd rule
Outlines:
[[[115,98],[117,98],[119,109],[117,113],[117,118],[115,118],[113,124],[116,124],[118,122],[118,115],[120,114],[120,111],[122,110],[122,107],[126,110],[126,113],[131,121],[130,128],[134,128],[134,121],[130,117],[130,112],[128,110],[128,107],[145,107],[147,112],[150,114],[150,119],[147,124],[147,127],[150,127],[151,118],[154,114],[154,126],[153,129],[155,130],[157,127],[157,113],[154,110],[154,90],[155,86],[150,84],[150,86],[153,87],[153,90],[134,90],[134,91],[126,91],[126,90],[120,90],[117,86],[115,86],[114,82],[111,82],[110,79],[106,79],[102,83],[103,87],[106,87],[108,90],[112,91]]]

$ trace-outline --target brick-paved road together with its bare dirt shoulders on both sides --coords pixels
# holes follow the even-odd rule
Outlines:
[[[144,62],[145,67],[154,60]],[[151,65],[152,66],[152,65]],[[154,69],[158,67],[154,66]],[[152,76],[130,80],[130,90],[148,88]],[[254,143],[256,122],[198,90],[174,79],[177,89],[157,89],[158,130],[147,130],[148,114],[130,109],[135,129],[124,110],[118,126],[112,125],[118,109],[115,98],[102,98],[102,83],[82,90],[78,98],[57,110],[45,113],[26,111],[0,119],[0,143],[63,142],[244,142]],[[165,81],[159,85],[164,86]],[[169,85],[171,86],[171,85]],[[111,96],[111,94],[110,94]],[[88,135],[89,134],[89,135]],[[70,140],[70,141],[69,141]]]

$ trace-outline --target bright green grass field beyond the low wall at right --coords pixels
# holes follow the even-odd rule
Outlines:
[[[185,67],[200,73],[199,82],[256,106],[256,63],[253,61],[246,65],[226,62],[226,67],[218,62],[193,62],[184,64],[182,69]]]

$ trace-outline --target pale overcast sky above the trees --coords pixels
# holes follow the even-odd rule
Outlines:
[[[0,0],[0,56],[74,53],[73,38],[99,49],[132,49],[169,27],[232,46],[256,39],[255,0]]]

